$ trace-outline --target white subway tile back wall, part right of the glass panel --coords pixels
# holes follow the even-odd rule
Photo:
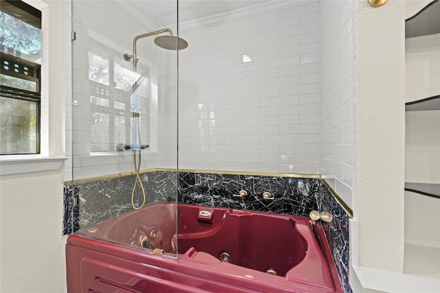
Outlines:
[[[181,24],[179,167],[319,172],[320,5],[275,4]]]

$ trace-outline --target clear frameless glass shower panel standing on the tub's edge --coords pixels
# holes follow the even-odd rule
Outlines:
[[[160,14],[173,21],[157,21]],[[170,256],[177,247],[178,51],[155,39],[177,35],[176,23],[177,1],[72,1],[67,125],[75,230]]]

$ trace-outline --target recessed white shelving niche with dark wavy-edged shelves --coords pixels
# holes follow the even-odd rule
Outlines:
[[[405,25],[404,273],[431,279],[440,277],[439,15],[432,1]]]

